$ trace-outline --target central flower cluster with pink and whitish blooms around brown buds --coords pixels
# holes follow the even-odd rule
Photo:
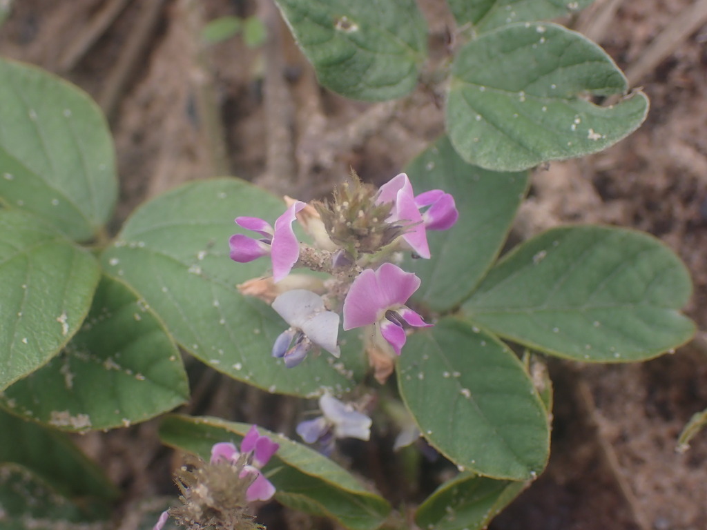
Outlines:
[[[274,228],[259,218],[236,218],[240,227],[259,237],[233,235],[230,257],[245,263],[270,256],[272,281],[258,281],[257,292],[272,302],[289,326],[276,338],[272,356],[283,359],[287,367],[302,363],[313,348],[339,357],[341,310],[344,330],[365,330],[375,376],[385,380],[402,351],[407,329],[431,326],[407,305],[420,279],[391,261],[401,251],[429,259],[427,231],[446,230],[457,216],[450,194],[433,189],[416,196],[401,173],[380,189],[354,175],[353,182],[334,192],[332,201],[308,205],[290,199]],[[296,219],[315,247],[298,242],[292,226]],[[277,288],[296,266],[329,273],[330,280],[318,284],[325,289]],[[250,292],[254,287],[248,284]]]

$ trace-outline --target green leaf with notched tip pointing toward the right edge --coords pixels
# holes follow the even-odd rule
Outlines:
[[[470,322],[575,360],[645,360],[689,340],[679,314],[689,273],[654,237],[618,228],[556,228],[491,269],[462,306]]]

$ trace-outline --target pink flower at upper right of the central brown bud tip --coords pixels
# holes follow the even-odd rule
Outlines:
[[[405,221],[407,232],[402,238],[423,258],[430,257],[426,230],[447,230],[457,222],[459,212],[454,197],[441,189],[414,195],[410,179],[404,173],[393,177],[378,190],[377,204],[392,202],[390,223]],[[421,208],[426,208],[422,213]]]

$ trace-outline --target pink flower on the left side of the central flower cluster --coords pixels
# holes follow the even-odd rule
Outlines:
[[[270,254],[272,259],[272,276],[274,281],[280,281],[288,275],[300,256],[300,244],[292,230],[296,214],[306,205],[295,201],[275,221],[275,228],[257,217],[237,217],[235,223],[259,233],[262,237],[253,239],[243,234],[235,234],[228,240],[230,259],[238,263],[247,263]]]

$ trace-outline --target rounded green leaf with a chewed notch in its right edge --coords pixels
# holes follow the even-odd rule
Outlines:
[[[645,119],[634,93],[599,107],[587,94],[626,93],[624,74],[590,40],[559,25],[514,24],[457,53],[447,130],[467,162],[497,171],[602,151]]]

